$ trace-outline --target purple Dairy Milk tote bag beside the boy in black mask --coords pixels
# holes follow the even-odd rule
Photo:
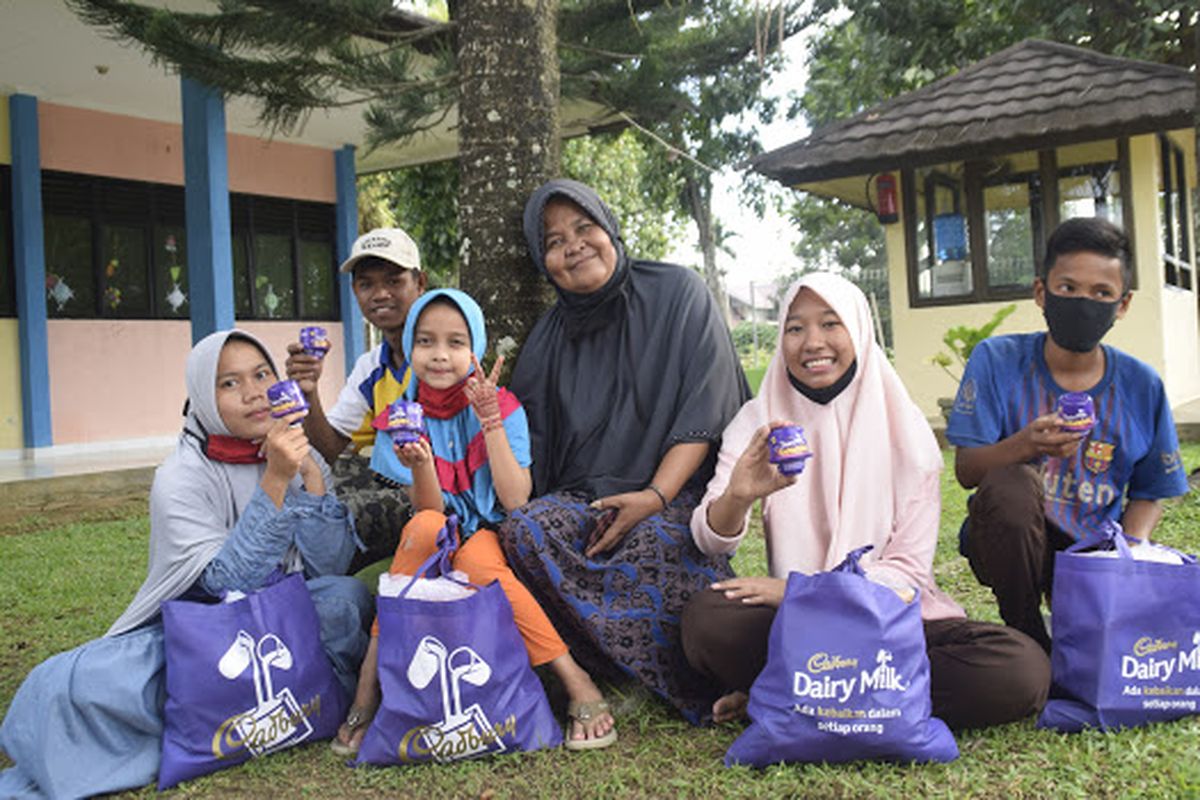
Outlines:
[[[1111,549],[1116,558],[1084,555]],[[1106,525],[1055,555],[1050,700],[1039,728],[1132,728],[1200,702],[1200,565],[1134,560]]]

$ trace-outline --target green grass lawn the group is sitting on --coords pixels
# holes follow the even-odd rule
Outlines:
[[[1188,469],[1200,445],[1184,446]],[[996,620],[990,593],[956,553],[966,493],[947,470],[936,572],[978,619]],[[145,516],[0,536],[0,708],[47,656],[100,636],[145,571]],[[1172,503],[1157,539],[1200,551],[1200,497]],[[738,554],[762,573],[761,536]],[[314,744],[185,783],[180,798],[1200,798],[1200,718],[1120,734],[1061,735],[1033,721],[958,736],[952,764],[790,765],[725,769],[738,726],[691,728],[631,687],[612,687],[620,741],[592,753],[516,754],[446,766],[347,769]],[[0,757],[0,766],[8,762]],[[120,796],[154,796],[152,788]]]

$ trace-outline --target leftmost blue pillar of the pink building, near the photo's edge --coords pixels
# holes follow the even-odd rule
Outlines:
[[[50,353],[46,332],[46,240],[42,231],[42,155],[37,98],[8,98],[12,139],[12,227],[17,258],[17,339],[20,414],[26,447],[54,444]]]

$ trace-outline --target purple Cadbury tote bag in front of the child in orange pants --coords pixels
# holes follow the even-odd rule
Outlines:
[[[418,575],[449,575],[455,549],[451,516],[438,534],[438,552]],[[400,596],[377,603],[383,702],[362,739],[360,764],[444,763],[562,744],[499,583],[462,600]]]

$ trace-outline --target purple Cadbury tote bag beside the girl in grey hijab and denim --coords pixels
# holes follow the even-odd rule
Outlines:
[[[346,697],[299,573],[233,602],[166,602],[162,622],[160,789],[337,733]]]

